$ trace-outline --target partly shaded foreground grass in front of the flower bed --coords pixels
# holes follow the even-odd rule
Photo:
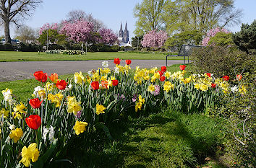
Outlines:
[[[223,168],[223,163],[218,162],[222,128],[219,121],[202,114],[163,110],[114,124],[110,131],[115,141],[105,145],[102,140],[95,141],[95,147],[89,151],[85,150],[88,144],[79,139],[66,158],[75,167],[90,164],[90,167]],[[206,157],[212,160],[207,162]]]

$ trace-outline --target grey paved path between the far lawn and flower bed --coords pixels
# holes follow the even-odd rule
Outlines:
[[[114,68],[113,60],[108,61],[109,68]],[[27,62],[0,62],[0,81],[14,81],[21,79],[32,79],[35,71],[42,70],[48,75],[57,73],[74,74],[74,72],[87,72],[91,69],[101,67],[101,60],[92,61],[27,61]],[[124,65],[125,61],[121,61]],[[168,60],[168,66],[176,63],[183,63],[182,60]],[[165,60],[132,60],[132,68],[151,68],[164,66]]]

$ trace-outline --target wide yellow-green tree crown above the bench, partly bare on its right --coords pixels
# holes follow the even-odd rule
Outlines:
[[[236,25],[241,16],[234,0],[167,0],[163,14],[169,33],[188,29],[205,33],[213,27]]]

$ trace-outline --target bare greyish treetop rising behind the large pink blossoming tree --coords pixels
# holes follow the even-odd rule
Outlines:
[[[72,10],[67,14],[67,22],[75,22],[77,20],[85,20],[87,22],[92,22],[94,25],[94,30],[98,31],[104,27],[103,22],[99,19],[95,19],[93,14],[86,14],[82,10]]]

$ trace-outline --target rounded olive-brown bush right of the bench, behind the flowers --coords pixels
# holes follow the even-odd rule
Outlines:
[[[239,50],[212,46],[197,48],[192,53],[192,71],[196,73],[211,72],[216,77],[224,75],[235,78],[236,74],[255,71],[255,56]]]

